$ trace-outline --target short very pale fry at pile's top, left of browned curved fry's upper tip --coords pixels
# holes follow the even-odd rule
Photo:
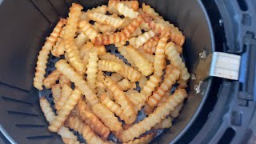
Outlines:
[[[122,2],[119,2],[117,5],[117,10],[119,14],[122,14],[125,17],[128,18],[137,18],[138,17],[138,12],[134,11],[128,6],[125,6]]]

